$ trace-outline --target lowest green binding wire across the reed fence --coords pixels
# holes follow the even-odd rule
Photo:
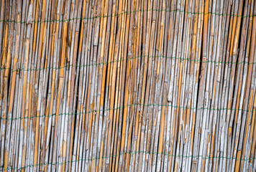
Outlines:
[[[119,153],[119,154],[116,154],[116,155],[111,155],[111,156],[107,156],[107,157],[99,157],[99,158],[90,158],[90,159],[78,159],[78,160],[74,160],[74,161],[65,161],[65,162],[62,162],[62,163],[38,163],[36,165],[28,165],[28,166],[24,166],[24,167],[21,167],[21,168],[18,168],[18,167],[15,167],[15,168],[12,168],[12,167],[9,167],[9,168],[5,168],[4,171],[8,171],[8,170],[15,170],[17,169],[18,171],[24,169],[24,168],[27,168],[27,167],[35,167],[35,166],[43,166],[43,165],[63,165],[65,163],[74,163],[74,162],[78,162],[78,161],[94,161],[94,160],[98,160],[98,159],[106,159],[106,158],[111,158],[111,157],[116,157],[116,156],[121,156],[123,154],[127,154],[127,153],[132,153],[132,155],[136,154],[136,153],[146,153],[146,154],[162,154],[164,156],[173,156],[175,158],[178,158],[178,157],[181,157],[181,158],[198,158],[198,157],[201,157],[203,159],[213,159],[213,158],[223,158],[223,159],[232,159],[232,160],[236,160],[236,161],[250,161],[250,160],[254,160],[256,159],[255,158],[233,158],[233,157],[226,157],[226,156],[211,156],[211,157],[203,157],[203,156],[176,156],[174,154],[168,154],[168,153],[163,153],[163,152],[146,152],[146,151],[136,151],[136,152],[132,152],[132,151],[128,151],[128,152],[124,152],[124,153]]]

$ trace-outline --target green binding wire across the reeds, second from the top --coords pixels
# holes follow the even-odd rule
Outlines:
[[[144,55],[144,56],[137,56],[137,57],[132,57],[129,59],[119,59],[119,60],[114,60],[111,62],[101,62],[101,63],[96,63],[96,64],[91,64],[91,65],[65,65],[63,67],[43,67],[40,69],[28,69],[25,70],[24,68],[21,69],[17,69],[17,70],[12,70],[11,72],[17,72],[17,71],[38,71],[38,70],[47,70],[47,69],[53,69],[53,70],[60,70],[63,69],[65,67],[90,67],[90,66],[98,66],[98,65],[107,65],[107,64],[111,64],[114,62],[123,62],[123,61],[129,61],[131,59],[137,59],[137,58],[142,58],[142,57],[149,57],[149,58],[157,58],[157,57],[163,57],[166,59],[181,59],[181,60],[188,60],[189,62],[202,62],[202,63],[214,63],[214,64],[236,64],[236,65],[240,65],[240,64],[247,64],[247,65],[254,65],[256,64],[256,62],[214,62],[211,60],[207,60],[207,61],[202,61],[201,59],[188,59],[188,58],[183,58],[183,57],[166,57],[166,56],[148,56],[148,55]],[[10,67],[5,67],[5,68],[0,68],[1,70],[11,70]]]

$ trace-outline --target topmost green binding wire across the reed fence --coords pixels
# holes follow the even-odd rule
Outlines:
[[[173,12],[173,11],[176,11],[176,12],[183,12],[183,13],[187,13],[187,14],[212,14],[212,15],[216,15],[216,16],[237,16],[237,17],[251,17],[250,15],[247,15],[247,16],[242,16],[242,15],[234,15],[234,14],[218,14],[218,13],[214,13],[214,12],[208,12],[208,13],[204,13],[204,12],[191,12],[191,11],[183,11],[183,10],[178,10],[178,9],[173,9],[173,10],[169,10],[169,9],[138,9],[136,11],[123,11],[122,13],[120,14],[114,14],[114,15],[106,15],[106,16],[93,16],[93,17],[86,17],[86,18],[72,18],[72,19],[63,19],[63,20],[44,20],[44,21],[40,21],[40,20],[37,20],[37,21],[32,21],[33,23],[44,23],[44,22],[69,22],[71,20],[75,20],[75,19],[97,19],[97,18],[105,18],[105,17],[112,17],[112,16],[119,16],[119,15],[122,15],[122,14],[129,14],[129,13],[136,13],[136,12],[144,12],[144,11],[170,11],[170,12]],[[255,15],[252,15],[252,16],[255,16]],[[14,20],[0,20],[0,22],[9,22],[9,23],[21,23],[21,24],[27,24],[28,22],[27,21],[24,21],[24,22],[17,22],[17,21],[14,21]]]

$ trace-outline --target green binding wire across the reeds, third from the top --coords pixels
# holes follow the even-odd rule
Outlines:
[[[88,114],[88,113],[97,113],[100,111],[107,111],[107,110],[117,110],[117,109],[122,109],[122,108],[128,108],[132,107],[134,105],[142,105],[144,107],[147,106],[158,106],[158,107],[172,107],[172,108],[180,108],[180,109],[191,109],[191,110],[243,110],[243,109],[232,109],[232,108],[221,108],[221,109],[210,109],[210,108],[187,108],[187,107],[181,107],[181,106],[176,106],[176,105],[157,105],[157,104],[150,104],[150,105],[145,105],[145,104],[140,104],[140,103],[134,103],[132,105],[127,105],[127,106],[121,106],[117,108],[109,108],[109,109],[102,109],[102,110],[91,110],[87,113],[60,113],[60,114],[52,114],[52,115],[38,115],[38,116],[33,116],[33,117],[19,117],[19,118],[3,118],[0,117],[1,120],[22,120],[22,119],[33,119],[33,118],[40,118],[40,117],[52,117],[52,116],[60,116],[60,115],[83,115],[83,114]],[[244,110],[247,113],[252,113],[255,110]]]

